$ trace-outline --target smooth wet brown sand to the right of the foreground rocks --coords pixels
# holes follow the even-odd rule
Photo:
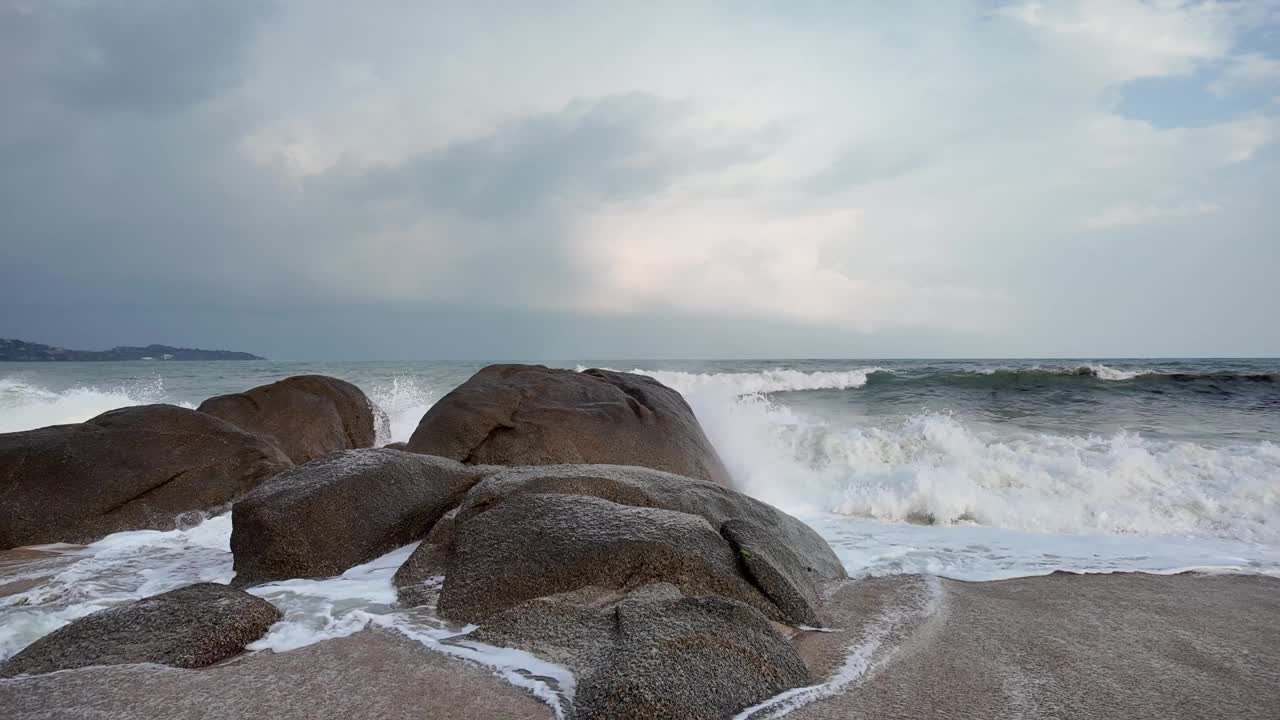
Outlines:
[[[837,615],[863,635],[918,582],[855,583]],[[860,680],[788,717],[1280,717],[1280,579],[1059,573],[936,580],[936,594]],[[832,667],[832,639],[801,644],[814,670]]]

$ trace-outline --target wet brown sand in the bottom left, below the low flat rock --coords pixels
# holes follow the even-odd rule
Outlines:
[[[556,717],[488,667],[380,629],[204,670],[115,665],[0,680],[0,707],[6,720]]]

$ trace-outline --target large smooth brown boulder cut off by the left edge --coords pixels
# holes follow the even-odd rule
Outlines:
[[[0,548],[173,529],[291,465],[270,441],[173,405],[0,434]]]

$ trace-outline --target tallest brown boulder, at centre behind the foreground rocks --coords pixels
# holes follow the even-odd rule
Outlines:
[[[609,370],[490,365],[426,411],[407,450],[467,464],[640,465],[730,484],[678,392]]]

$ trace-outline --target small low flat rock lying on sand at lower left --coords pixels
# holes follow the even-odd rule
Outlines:
[[[0,665],[0,676],[132,662],[204,667],[237,655],[279,619],[270,602],[246,592],[187,585],[59,628]]]

